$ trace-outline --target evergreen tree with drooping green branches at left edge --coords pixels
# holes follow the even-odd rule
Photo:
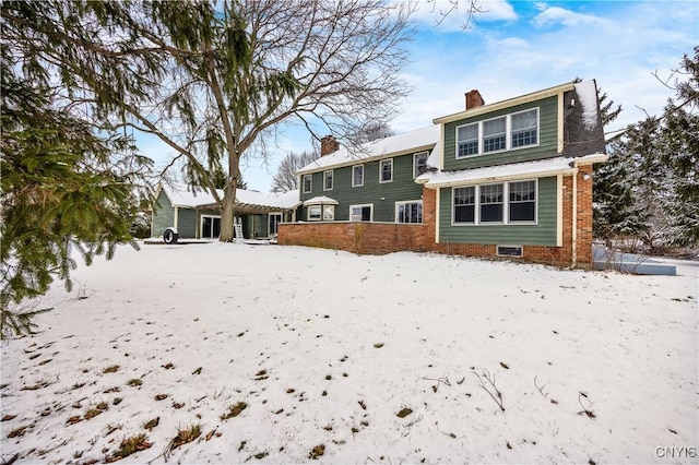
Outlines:
[[[95,254],[111,258],[117,243],[135,246],[130,229],[150,160],[107,115],[118,116],[116,95],[143,95],[152,63],[138,53],[125,61],[98,52],[118,48],[84,27],[128,24],[122,4],[7,1],[1,13],[0,333],[7,336],[31,331],[32,299],[54,279],[71,288],[75,254],[90,264]],[[82,46],[86,40],[93,48]],[[129,36],[120,40],[135,45]]]

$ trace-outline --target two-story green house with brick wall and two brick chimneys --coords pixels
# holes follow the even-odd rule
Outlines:
[[[433,122],[300,169],[306,223],[280,243],[592,262],[592,167],[606,160],[593,80],[489,105],[471,91]]]

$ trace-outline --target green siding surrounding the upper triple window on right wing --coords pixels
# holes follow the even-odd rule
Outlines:
[[[483,121],[503,115],[538,107],[538,139],[540,143],[534,147],[517,148],[477,155],[457,159],[457,128],[472,122]],[[500,165],[522,160],[548,158],[556,154],[558,148],[558,97],[548,97],[542,100],[524,105],[509,107],[487,115],[466,118],[445,124],[445,170],[474,168],[478,166]]]

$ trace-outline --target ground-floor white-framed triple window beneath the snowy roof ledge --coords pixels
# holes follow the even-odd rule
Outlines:
[[[452,224],[536,224],[537,180],[452,188]]]

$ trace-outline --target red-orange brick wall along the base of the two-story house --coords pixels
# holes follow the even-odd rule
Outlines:
[[[580,167],[578,193],[578,264],[592,260],[592,167]],[[564,177],[562,247],[524,246],[522,260],[560,266],[572,264],[572,177]],[[497,245],[436,243],[436,191],[423,188],[423,224],[393,223],[293,223],[279,225],[279,243],[347,250],[354,253],[381,254],[402,250],[433,251],[467,257],[496,258]]]

